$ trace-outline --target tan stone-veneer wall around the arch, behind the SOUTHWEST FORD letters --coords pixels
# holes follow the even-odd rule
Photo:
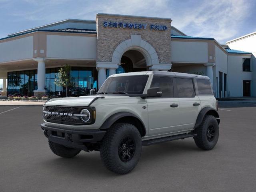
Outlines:
[[[103,22],[125,22],[147,24],[146,29],[109,28],[104,27]],[[116,47],[131,38],[131,34],[141,35],[141,39],[148,42],[156,50],[159,63],[171,62],[171,20],[150,19],[143,17],[129,18],[127,16],[97,15],[97,61],[111,62],[112,54]],[[150,24],[165,25],[166,31],[150,30]]]

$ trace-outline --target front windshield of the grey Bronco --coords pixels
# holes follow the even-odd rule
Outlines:
[[[110,77],[98,94],[142,94],[147,80],[148,75]]]

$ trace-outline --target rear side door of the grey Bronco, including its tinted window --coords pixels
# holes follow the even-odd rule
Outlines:
[[[201,110],[201,102],[195,94],[191,78],[175,78],[180,103],[180,131],[191,130]]]

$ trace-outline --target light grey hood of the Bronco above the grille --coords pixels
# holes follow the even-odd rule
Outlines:
[[[81,97],[53,98],[46,102],[46,105],[62,105],[62,106],[88,106],[96,97],[104,95],[90,95]]]

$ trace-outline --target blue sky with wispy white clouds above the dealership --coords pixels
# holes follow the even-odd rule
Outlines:
[[[0,0],[0,38],[68,18],[95,20],[97,13],[171,18],[186,35],[220,44],[256,31],[255,0]]]

